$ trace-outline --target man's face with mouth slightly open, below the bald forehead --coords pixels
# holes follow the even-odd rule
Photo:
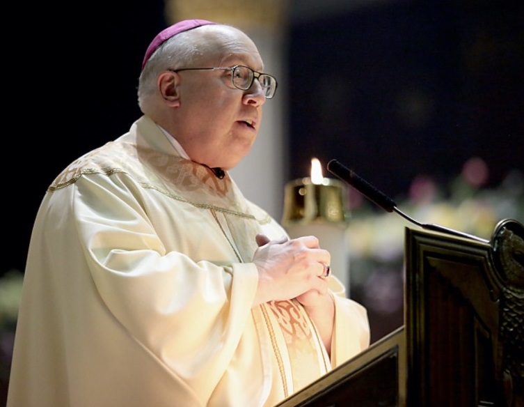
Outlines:
[[[262,59],[253,42],[239,31],[209,38],[215,43],[213,56],[198,66],[244,65],[261,71]],[[191,160],[231,169],[246,156],[255,142],[265,97],[255,79],[247,91],[235,88],[229,70],[184,70],[178,72],[180,89],[179,125],[175,137]],[[183,123],[180,125],[180,123]]]

